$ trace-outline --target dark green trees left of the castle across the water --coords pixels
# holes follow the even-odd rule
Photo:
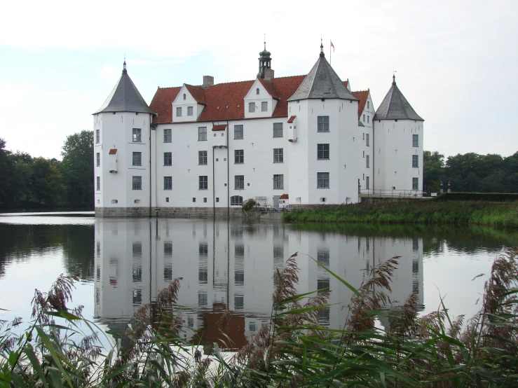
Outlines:
[[[93,131],[67,136],[61,155],[33,158],[0,138],[0,207],[93,207]]]

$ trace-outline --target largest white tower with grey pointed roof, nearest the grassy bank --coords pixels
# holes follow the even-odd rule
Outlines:
[[[357,202],[358,99],[320,57],[288,99],[290,204]]]

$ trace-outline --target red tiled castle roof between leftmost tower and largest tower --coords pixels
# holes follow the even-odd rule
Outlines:
[[[278,99],[277,106],[271,117],[287,117],[287,99],[293,95],[305,76],[273,78],[271,82],[261,80],[261,84],[268,85],[268,93]],[[254,81],[240,81],[219,83],[210,88],[202,89],[199,86],[186,85],[189,92],[196,93],[193,98],[200,104],[205,104],[198,122],[243,120],[245,118],[245,96],[252,88]],[[154,123],[172,123],[172,102],[177,97],[181,87],[158,88],[151,101],[151,109],[158,113]],[[203,97],[201,97],[203,92]],[[228,106],[228,107],[227,107]]]

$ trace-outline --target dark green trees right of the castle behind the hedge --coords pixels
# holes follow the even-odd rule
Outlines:
[[[460,153],[444,158],[438,151],[424,152],[423,189],[428,192],[518,193],[518,152],[500,155]]]

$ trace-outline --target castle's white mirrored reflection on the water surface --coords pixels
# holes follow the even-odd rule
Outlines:
[[[118,332],[140,305],[182,277],[178,303],[186,307],[179,312],[186,326],[212,342],[221,313],[234,310],[231,338],[240,345],[269,323],[273,273],[295,252],[299,292],[332,291],[325,326],[343,327],[351,291],[309,256],[355,287],[374,265],[401,256],[390,299],[399,305],[414,291],[423,305],[421,239],[295,231],[276,222],[96,219],[95,247],[95,316]]]

